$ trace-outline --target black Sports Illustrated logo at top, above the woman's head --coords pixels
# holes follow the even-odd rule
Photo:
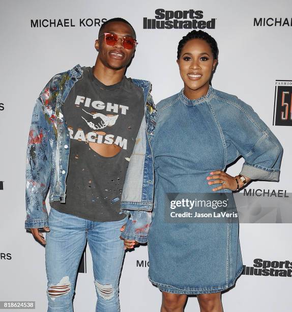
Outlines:
[[[215,29],[216,18],[202,20],[203,11],[155,10],[155,18],[143,17],[143,29]]]

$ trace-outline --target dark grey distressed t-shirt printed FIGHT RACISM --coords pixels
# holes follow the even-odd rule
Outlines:
[[[106,86],[86,67],[62,112],[70,134],[66,203],[50,205],[87,220],[122,220],[125,175],[144,114],[142,89],[126,76]]]

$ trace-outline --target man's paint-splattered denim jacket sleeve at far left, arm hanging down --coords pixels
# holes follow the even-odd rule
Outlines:
[[[44,90],[48,91],[47,88]],[[44,94],[34,107],[26,151],[25,228],[48,226],[45,198],[49,190],[54,131],[43,111]]]

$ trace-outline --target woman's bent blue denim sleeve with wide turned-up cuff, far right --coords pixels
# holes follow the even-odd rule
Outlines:
[[[253,180],[278,181],[283,148],[276,136],[245,102],[239,100],[231,112],[228,136],[245,160],[240,173]]]

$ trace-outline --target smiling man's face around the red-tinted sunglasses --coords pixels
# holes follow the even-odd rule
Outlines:
[[[105,25],[103,32],[135,38],[130,25],[124,22],[111,22]],[[122,37],[119,37],[119,40],[113,46],[107,45],[104,41],[104,35],[95,41],[95,48],[99,51],[97,59],[99,59],[105,67],[114,70],[127,67],[135,51],[135,48],[124,48]]]

